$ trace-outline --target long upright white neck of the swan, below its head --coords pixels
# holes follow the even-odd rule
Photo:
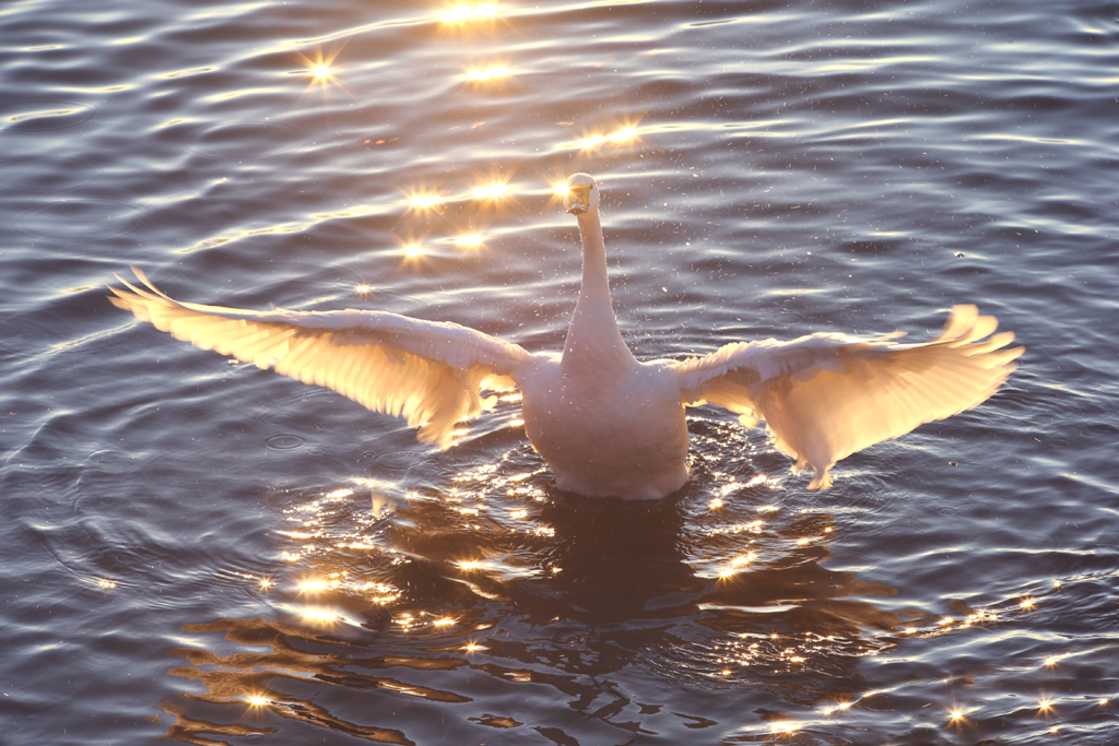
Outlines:
[[[565,368],[574,366],[574,369],[594,371],[598,376],[624,375],[637,360],[618,331],[598,209],[579,216],[579,234],[583,242],[583,285],[567,329],[563,363]]]

